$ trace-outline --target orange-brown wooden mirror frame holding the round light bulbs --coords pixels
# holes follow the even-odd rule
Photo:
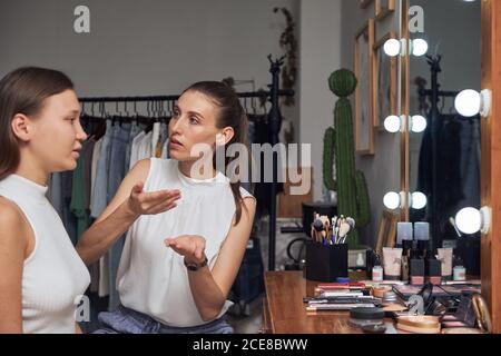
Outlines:
[[[410,39],[410,0],[401,0],[401,38]],[[501,333],[501,1],[482,0],[482,89],[492,90],[492,108],[481,123],[481,202],[492,210],[491,228],[481,237],[482,297],[492,319],[492,332]],[[499,26],[497,26],[499,23]],[[410,58],[401,57],[401,115],[410,111]],[[492,145],[497,142],[497,145]],[[410,191],[410,132],[401,135],[401,191]],[[409,201],[401,209],[401,221],[410,220]]]

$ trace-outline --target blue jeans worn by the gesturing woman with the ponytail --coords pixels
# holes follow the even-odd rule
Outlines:
[[[204,325],[174,327],[122,305],[115,312],[100,313],[98,318],[104,328],[94,334],[233,334],[234,332],[225,316]]]

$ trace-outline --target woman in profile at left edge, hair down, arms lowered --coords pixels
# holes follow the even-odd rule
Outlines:
[[[86,139],[71,80],[20,68],[0,81],[0,333],[76,333],[90,283],[46,198],[51,172],[75,169]]]

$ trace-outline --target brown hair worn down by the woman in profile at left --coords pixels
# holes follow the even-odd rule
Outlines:
[[[37,116],[46,98],[67,89],[73,89],[73,83],[65,73],[37,67],[16,69],[0,80],[0,180],[20,161],[19,142],[11,129],[13,117]]]

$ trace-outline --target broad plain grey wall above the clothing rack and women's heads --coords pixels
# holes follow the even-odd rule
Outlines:
[[[73,31],[82,3],[89,34]],[[285,18],[274,7],[298,18],[298,0],[1,0],[0,76],[23,65],[60,69],[79,96],[175,95],[228,76],[266,88],[266,57],[283,53]],[[294,109],[284,111],[297,120]]]

